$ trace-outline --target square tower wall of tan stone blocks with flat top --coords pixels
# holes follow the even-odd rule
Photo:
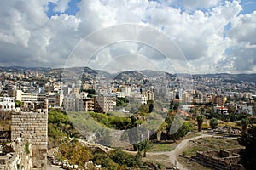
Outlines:
[[[32,169],[45,170],[47,165],[48,110],[37,112],[14,112],[11,123],[11,140],[32,140]]]

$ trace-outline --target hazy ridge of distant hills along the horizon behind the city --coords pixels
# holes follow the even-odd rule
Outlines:
[[[96,77],[97,75],[103,75],[117,80],[128,80],[136,79],[141,80],[144,77],[162,77],[174,79],[175,77],[191,77],[189,74],[176,73],[171,74],[164,71],[123,71],[119,73],[110,74],[106,71],[94,70],[89,67],[73,67],[73,68],[44,68],[44,67],[21,67],[21,66],[9,66],[9,67],[0,67],[0,71],[9,71],[9,72],[24,72],[24,71],[44,71],[45,75],[48,77],[78,77],[81,75],[81,72],[84,73],[83,77]],[[63,72],[64,71],[64,72]],[[253,74],[228,74],[228,73],[218,73],[218,74],[195,74],[192,77],[212,77],[212,78],[222,78],[224,82],[231,83],[240,83],[240,82],[255,82],[256,83],[256,73]],[[80,77],[78,77],[80,78]]]

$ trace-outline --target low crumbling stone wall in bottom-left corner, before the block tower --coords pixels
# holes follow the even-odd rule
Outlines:
[[[31,170],[32,144],[30,139],[18,138],[0,150],[0,170]]]

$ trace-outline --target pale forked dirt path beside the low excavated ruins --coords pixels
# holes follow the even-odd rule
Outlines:
[[[212,137],[212,135],[209,134],[201,134],[201,136],[195,136],[190,139],[184,139],[180,144],[177,145],[177,147],[172,151],[162,151],[162,152],[148,152],[148,156],[160,156],[160,155],[166,155],[169,156],[166,161],[172,162],[173,165],[175,165],[175,161],[177,161],[177,156],[183,152],[183,150],[189,145],[189,141],[196,140],[200,138],[207,138]],[[181,170],[187,170],[186,167],[184,167],[182,164],[180,164],[177,161],[177,167]]]

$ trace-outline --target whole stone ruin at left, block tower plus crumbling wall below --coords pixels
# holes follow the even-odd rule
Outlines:
[[[30,167],[25,169],[45,170],[47,166],[48,101],[32,102],[25,108],[21,108],[21,111],[13,111],[10,129],[10,140],[12,142],[17,139],[31,141],[31,156],[26,158],[28,160],[31,159],[32,163],[28,164]],[[12,167],[12,165],[15,164],[16,159],[20,159],[20,154],[24,150],[24,148],[23,150],[20,149],[20,151],[14,150],[14,152],[10,153],[15,154],[7,153],[9,154],[8,156],[2,155],[0,160],[3,156],[7,156],[9,160],[0,162],[5,166],[3,169],[20,169],[20,167]],[[17,158],[17,156],[19,157]]]

